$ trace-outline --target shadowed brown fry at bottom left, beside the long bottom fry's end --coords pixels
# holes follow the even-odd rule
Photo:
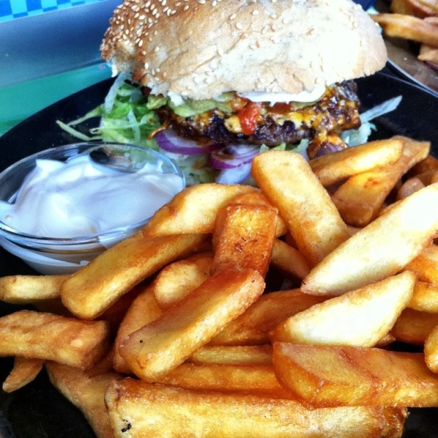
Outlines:
[[[110,372],[90,378],[77,368],[55,362],[47,362],[46,370],[52,385],[82,411],[97,438],[114,438],[105,407],[105,391],[123,376]]]

